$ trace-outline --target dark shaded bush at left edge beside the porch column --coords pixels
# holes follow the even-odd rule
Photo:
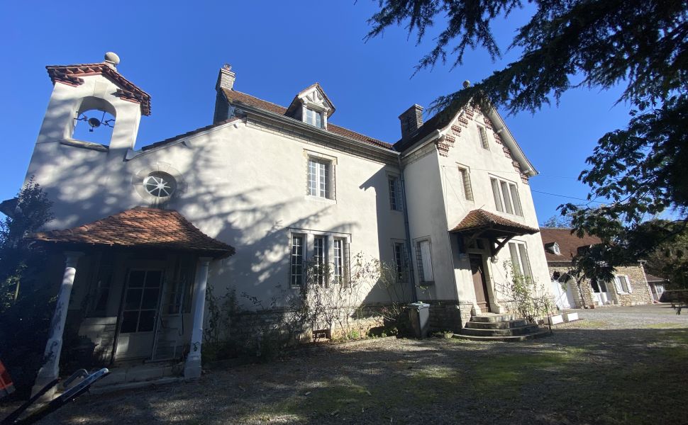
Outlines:
[[[48,256],[23,239],[52,218],[50,201],[29,181],[17,195],[13,217],[0,223],[0,358],[26,397],[43,363],[55,287],[42,276]]]

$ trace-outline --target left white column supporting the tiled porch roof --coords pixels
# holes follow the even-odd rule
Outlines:
[[[41,388],[48,385],[52,380],[57,379],[60,373],[60,353],[62,352],[62,333],[65,331],[65,321],[67,320],[67,310],[70,307],[70,297],[72,296],[72,286],[74,285],[74,276],[77,274],[77,262],[79,257],[84,255],[82,252],[65,252],[67,261],[65,261],[65,274],[62,275],[62,285],[60,285],[60,292],[57,293],[57,302],[55,302],[55,312],[52,314],[52,322],[50,322],[50,336],[48,342],[45,344],[45,353],[43,354],[43,367],[38,370],[35,384],[31,390],[34,395]],[[55,392],[54,388],[46,392],[44,399],[52,399]]]

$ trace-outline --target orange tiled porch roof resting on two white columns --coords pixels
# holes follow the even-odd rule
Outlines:
[[[30,234],[27,238],[67,245],[196,251],[218,257],[234,254],[232,246],[204,234],[179,212],[145,207],[72,229]]]

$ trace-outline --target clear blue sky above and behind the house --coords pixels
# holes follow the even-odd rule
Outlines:
[[[479,81],[518,57],[517,51],[508,52],[492,62],[477,50],[461,67],[440,65],[411,78],[414,65],[433,45],[432,33],[419,46],[404,28],[364,42],[377,0],[161,4],[0,2],[0,200],[13,196],[23,182],[52,91],[48,64],[101,62],[104,52],[118,53],[118,71],[152,96],[152,115],[143,117],[138,133],[140,147],[209,125],[224,63],[236,72],[235,89],[284,106],[318,81],[337,107],[333,123],[395,142],[397,116],[406,108],[427,107],[465,79]],[[528,13],[496,23],[504,49]],[[620,92],[576,89],[558,107],[505,115],[540,171],[531,179],[540,222],[560,203],[578,202],[562,196],[587,195],[587,186],[575,178],[597,139],[626,125],[628,108],[614,106]]]

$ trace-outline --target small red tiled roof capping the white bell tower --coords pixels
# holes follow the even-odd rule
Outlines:
[[[48,65],[45,69],[48,69],[52,84],[55,84],[55,81],[60,81],[70,86],[84,84],[84,79],[81,77],[102,74],[119,86],[120,89],[116,92],[116,96],[126,101],[140,103],[141,113],[150,115],[150,94],[122,77],[122,74],[109,67],[108,64]]]

